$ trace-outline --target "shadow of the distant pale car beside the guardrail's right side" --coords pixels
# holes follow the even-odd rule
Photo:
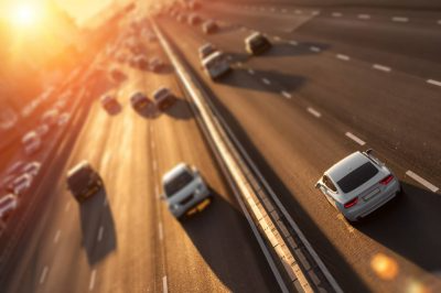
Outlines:
[[[254,77],[257,79],[257,83],[244,83],[244,75],[249,76],[249,73],[244,68],[234,68],[229,74],[223,76],[217,82],[233,87],[248,88],[258,91],[265,90],[275,94],[280,94],[281,90],[295,91],[306,83],[306,78],[303,76],[284,74],[276,70],[254,69]],[[265,85],[262,78],[270,80],[271,85]]]

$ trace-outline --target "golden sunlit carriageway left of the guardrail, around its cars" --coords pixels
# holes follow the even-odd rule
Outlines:
[[[149,56],[168,63],[158,43],[147,48]],[[2,256],[1,291],[278,291],[172,67],[161,74],[121,69],[128,78],[110,88],[121,111],[108,115],[99,95],[109,84],[95,85],[99,89],[82,101],[63,142],[50,153],[43,150],[43,167],[50,170],[25,198],[40,199],[33,202],[37,211],[21,224],[26,228],[17,247],[2,250],[8,256]],[[151,97],[162,85],[179,97],[166,112],[146,118],[131,108],[135,90]],[[66,189],[65,174],[82,160],[99,172],[105,191],[78,205]],[[179,162],[196,165],[214,194],[211,206],[183,223],[159,198],[162,174]],[[0,239],[3,247],[19,230],[10,225]]]

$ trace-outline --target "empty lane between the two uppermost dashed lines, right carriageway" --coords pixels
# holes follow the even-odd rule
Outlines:
[[[331,19],[326,15],[244,12],[233,8],[203,10],[208,18],[298,42],[321,43],[332,52],[369,63],[385,64],[421,78],[441,78],[438,25]],[[266,21],[262,21],[265,19]],[[282,22],[282,23],[279,23]]]

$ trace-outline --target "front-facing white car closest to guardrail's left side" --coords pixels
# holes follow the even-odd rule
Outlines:
[[[180,163],[162,176],[161,196],[178,219],[203,210],[211,203],[211,192],[196,167]]]

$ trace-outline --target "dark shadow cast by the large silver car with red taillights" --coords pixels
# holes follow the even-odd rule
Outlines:
[[[401,182],[404,193],[354,228],[430,271],[441,271],[441,197]]]

